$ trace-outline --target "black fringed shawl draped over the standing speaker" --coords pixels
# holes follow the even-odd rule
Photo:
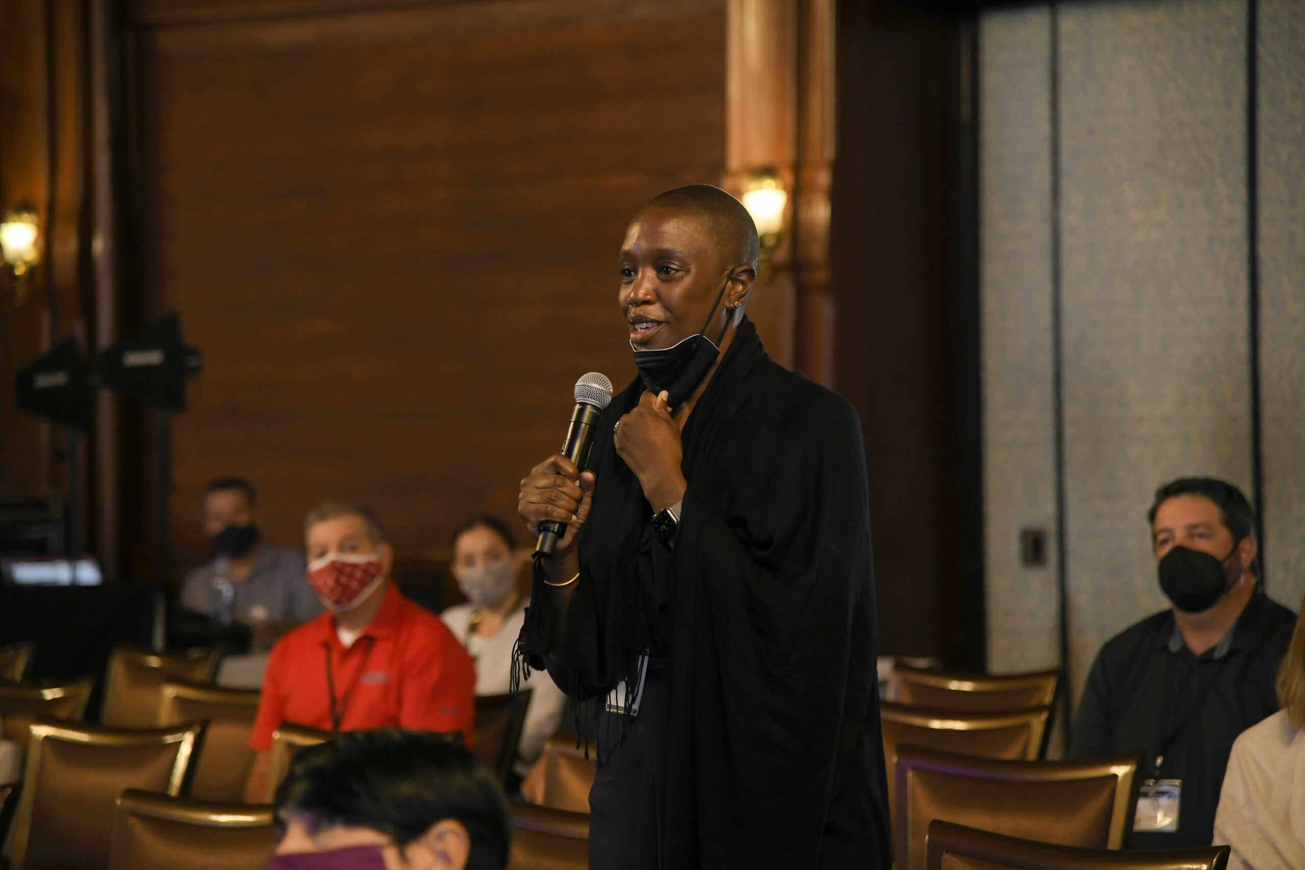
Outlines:
[[[611,691],[671,659],[666,866],[886,867],[864,446],[837,394],[771,361],[744,320],[684,428],[684,517],[656,540],[604,411],[589,467],[562,689]],[[536,571],[521,652],[542,669]],[[555,668],[555,673],[556,673]]]

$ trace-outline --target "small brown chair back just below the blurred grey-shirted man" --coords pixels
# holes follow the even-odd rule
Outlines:
[[[159,686],[168,680],[211,682],[218,659],[219,651],[206,648],[163,653],[114,650],[100,721],[119,728],[151,728],[159,715]]]

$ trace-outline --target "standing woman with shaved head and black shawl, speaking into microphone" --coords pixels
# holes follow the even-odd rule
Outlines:
[[[586,468],[521,484],[531,535],[568,523],[519,646],[596,699],[592,870],[890,863],[860,424],[766,356],[757,252],[724,190],[645,206],[617,299],[639,376]]]

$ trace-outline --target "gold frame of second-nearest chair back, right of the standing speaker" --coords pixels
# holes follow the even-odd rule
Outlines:
[[[1141,757],[1118,755],[1060,762],[1006,762],[993,758],[954,755],[917,746],[899,746],[897,762],[897,794],[893,814],[893,849],[897,866],[908,867],[910,827],[907,807],[907,779],[912,770],[972,776],[974,779],[1005,780],[1015,783],[1064,783],[1114,776],[1114,806],[1107,833],[1107,849],[1122,849],[1133,830],[1137,807],[1138,770]]]

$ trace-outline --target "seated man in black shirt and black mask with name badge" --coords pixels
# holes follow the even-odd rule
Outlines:
[[[1208,845],[1233,741],[1278,711],[1296,616],[1255,580],[1255,515],[1236,487],[1174,480],[1147,517],[1173,609],[1101,647],[1070,755],[1142,754],[1133,848]]]

